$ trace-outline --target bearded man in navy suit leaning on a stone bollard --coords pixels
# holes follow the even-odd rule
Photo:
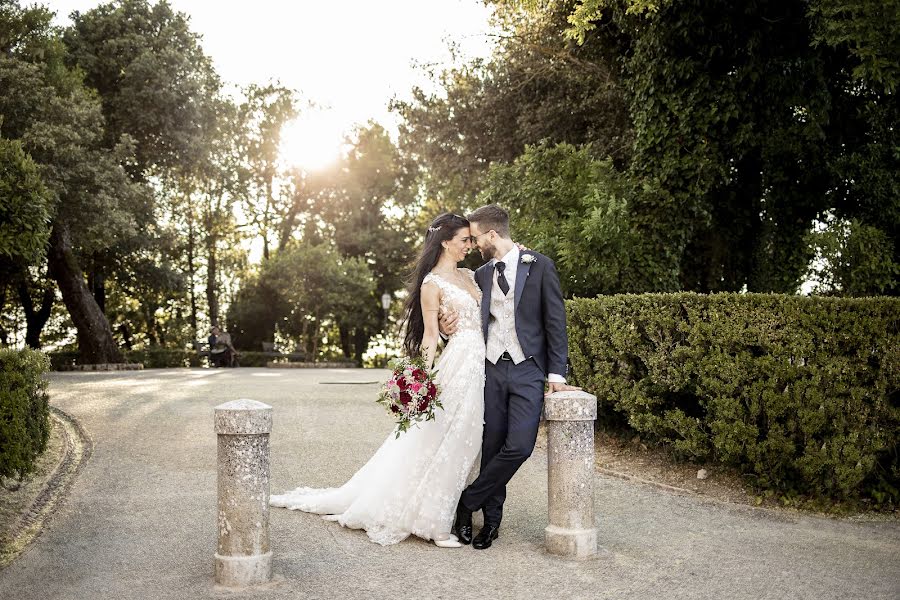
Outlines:
[[[481,472],[467,487],[453,526],[459,541],[479,550],[499,537],[506,484],[531,455],[544,401],[566,385],[566,314],[553,261],[520,251],[509,235],[509,215],[491,204],[468,217],[471,240],[486,261],[475,272],[482,291],[481,323],[487,344],[484,384],[484,439]],[[456,315],[441,320],[455,331]],[[481,510],[484,527],[472,539],[472,513]]]

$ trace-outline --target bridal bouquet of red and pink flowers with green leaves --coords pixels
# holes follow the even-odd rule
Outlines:
[[[388,365],[394,373],[381,388],[377,402],[397,418],[397,437],[420,421],[434,420],[434,411],[443,408],[438,400],[434,373],[422,358],[400,358]]]

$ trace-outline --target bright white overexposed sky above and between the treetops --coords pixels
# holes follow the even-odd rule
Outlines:
[[[40,0],[38,0],[40,1]],[[97,0],[40,2],[60,24]],[[343,133],[374,119],[394,130],[387,104],[426,85],[418,64],[450,61],[448,40],[465,57],[487,56],[490,9],[481,0],[169,0],[191,16],[192,29],[220,76],[232,83],[270,79],[330,107],[301,119],[285,151],[307,166],[336,151]],[[326,150],[326,148],[330,150]]]

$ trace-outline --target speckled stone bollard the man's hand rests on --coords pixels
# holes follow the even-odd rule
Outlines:
[[[594,525],[594,421],[597,397],[556,392],[544,400],[547,421],[547,551],[570,558],[597,553]]]

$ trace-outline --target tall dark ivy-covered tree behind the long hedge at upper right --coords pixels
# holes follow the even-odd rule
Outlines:
[[[569,6],[570,38],[622,57],[644,289],[793,292],[831,209],[896,247],[897,2]]]

